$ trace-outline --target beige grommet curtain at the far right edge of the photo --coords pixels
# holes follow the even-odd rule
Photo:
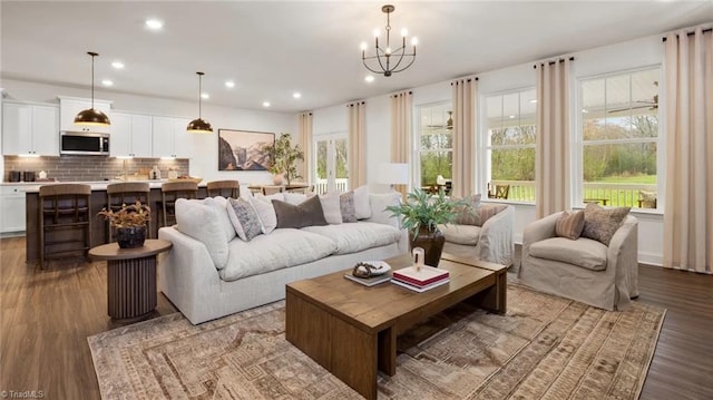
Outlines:
[[[713,33],[666,37],[664,266],[713,273]]]

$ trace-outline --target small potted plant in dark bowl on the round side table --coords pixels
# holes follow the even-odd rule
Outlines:
[[[146,224],[152,219],[152,208],[136,202],[123,204],[121,208],[101,208],[97,214],[104,216],[113,230],[116,230],[116,241],[121,248],[140,247],[146,241]]]

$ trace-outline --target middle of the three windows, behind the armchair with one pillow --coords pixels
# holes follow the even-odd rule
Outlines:
[[[535,202],[535,89],[485,97],[488,196]]]

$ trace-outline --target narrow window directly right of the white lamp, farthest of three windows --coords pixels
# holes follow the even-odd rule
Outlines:
[[[438,176],[446,182],[452,177],[453,166],[453,119],[451,104],[419,107],[418,133],[420,146],[420,184],[433,187]]]

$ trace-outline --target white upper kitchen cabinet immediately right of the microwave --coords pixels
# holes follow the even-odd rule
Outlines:
[[[153,157],[152,117],[126,113],[111,114],[111,142],[114,157]]]

